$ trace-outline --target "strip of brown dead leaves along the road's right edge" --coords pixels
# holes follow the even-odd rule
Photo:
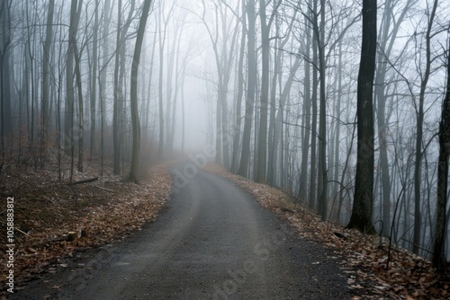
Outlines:
[[[303,237],[339,252],[344,258],[340,267],[348,276],[348,287],[357,295],[354,299],[450,298],[450,275],[437,275],[429,260],[392,245],[388,266],[389,241],[322,222],[320,216],[294,203],[283,190],[248,181],[215,163],[209,163],[205,170],[247,190],[262,206],[289,220]]]

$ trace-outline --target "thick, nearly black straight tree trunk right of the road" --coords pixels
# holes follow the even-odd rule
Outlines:
[[[356,187],[348,228],[374,233],[374,73],[376,54],[376,0],[363,2],[363,40],[357,86]]]

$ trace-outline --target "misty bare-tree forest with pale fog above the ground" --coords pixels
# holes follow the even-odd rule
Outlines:
[[[87,166],[139,184],[157,162],[207,159],[443,269],[449,13],[438,0],[1,1],[0,179],[73,182]]]

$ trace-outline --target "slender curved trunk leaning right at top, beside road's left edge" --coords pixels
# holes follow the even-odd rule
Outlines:
[[[144,40],[145,27],[150,10],[151,0],[144,0],[142,14],[140,15],[138,36],[136,37],[136,45],[133,54],[133,63],[131,65],[130,79],[130,108],[131,108],[131,125],[133,131],[133,148],[131,154],[131,167],[127,181],[139,183],[139,151],[140,151],[140,126],[138,111],[138,70],[140,51],[142,49],[142,41]]]

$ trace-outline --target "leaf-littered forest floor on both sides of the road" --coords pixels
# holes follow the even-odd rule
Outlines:
[[[172,184],[167,164],[152,168],[143,175],[139,185],[122,181],[122,176],[107,175],[70,186],[67,180],[59,182],[55,172],[46,171],[56,170],[55,166],[39,172],[30,167],[21,168],[5,169],[0,182],[2,202],[14,196],[15,290],[39,278],[42,272],[54,272],[55,266],[64,268],[61,259],[72,256],[74,251],[109,243],[139,230],[145,223],[154,222],[165,207]],[[247,190],[262,206],[288,220],[303,237],[338,250],[346,258],[341,261],[341,268],[349,275],[347,284],[361,298],[446,299],[450,296],[450,276],[438,276],[428,260],[394,246],[389,259],[389,245],[379,237],[321,222],[320,216],[293,203],[282,190],[247,181],[216,164],[208,164],[205,169]],[[95,163],[86,163],[85,172],[76,173],[74,181],[93,178],[97,170]],[[105,173],[112,171],[105,170]],[[0,234],[6,236],[4,208],[0,209],[0,221]],[[5,244],[0,246],[0,251],[6,251]],[[389,268],[386,268],[388,260]],[[0,269],[4,287],[8,270],[4,262]]]

